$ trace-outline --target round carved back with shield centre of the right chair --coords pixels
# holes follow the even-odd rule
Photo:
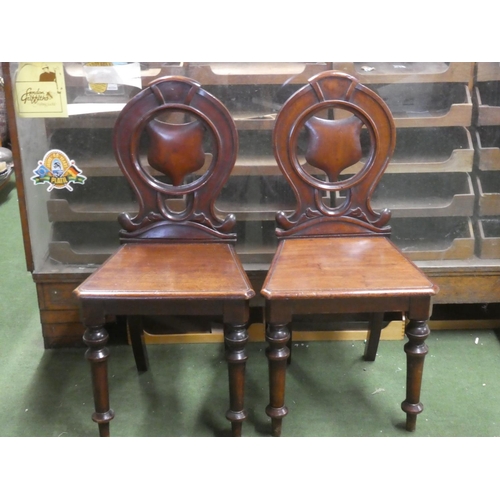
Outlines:
[[[277,237],[389,235],[390,211],[375,212],[370,198],[395,144],[392,114],[375,92],[338,71],[311,78],[274,127],[274,154],[297,199],[294,212],[277,213]]]

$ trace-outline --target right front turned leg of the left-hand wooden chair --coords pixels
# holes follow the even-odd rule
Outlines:
[[[245,349],[248,342],[246,325],[224,325],[224,339],[229,373],[229,410],[226,418],[231,422],[233,436],[240,437],[247,417],[244,407],[245,367],[248,359]]]

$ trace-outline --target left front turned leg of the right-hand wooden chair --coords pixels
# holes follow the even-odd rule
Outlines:
[[[269,364],[269,398],[266,413],[271,417],[272,435],[281,436],[282,420],[288,413],[285,406],[285,379],[290,350],[287,344],[290,332],[287,325],[268,324],[266,340],[269,344],[266,356]]]

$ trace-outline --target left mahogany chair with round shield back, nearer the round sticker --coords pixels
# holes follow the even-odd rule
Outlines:
[[[224,105],[185,77],[159,79],[121,111],[114,128],[118,165],[138,213],[119,217],[120,248],[76,290],[86,331],[93,420],[109,436],[106,318],[128,317],[139,371],[148,369],[141,318],[219,315],[229,371],[232,434],[241,435],[248,301],[255,295],[234,250],[235,217],[215,201],[234,166],[238,136]],[[207,165],[208,164],[208,165]]]

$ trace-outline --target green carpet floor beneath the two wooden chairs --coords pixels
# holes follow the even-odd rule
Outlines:
[[[14,180],[0,191],[0,436],[96,436],[84,349],[45,351],[35,285],[26,271]],[[476,339],[478,339],[476,341]],[[404,341],[383,341],[373,363],[363,342],[300,342],[287,376],[283,436],[498,436],[500,342],[492,330],[438,331],[428,340],[417,430],[404,430]],[[265,345],[248,347],[244,436],[267,437]],[[111,346],[112,436],[227,436],[221,345],[152,345],[139,375],[131,348]]]

